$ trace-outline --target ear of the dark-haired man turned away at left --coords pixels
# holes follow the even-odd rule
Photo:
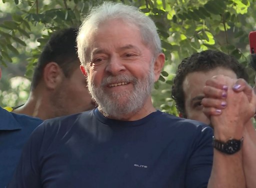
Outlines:
[[[64,74],[55,62],[46,64],[43,69],[43,80],[47,88],[54,89],[62,81]]]

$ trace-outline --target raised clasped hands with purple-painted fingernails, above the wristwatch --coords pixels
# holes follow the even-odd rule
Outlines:
[[[256,110],[252,88],[243,79],[217,75],[205,82],[203,92],[203,112],[210,116],[214,132],[219,130],[224,137],[241,136],[243,125]]]

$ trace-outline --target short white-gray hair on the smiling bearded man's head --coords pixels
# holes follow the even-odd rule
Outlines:
[[[161,41],[153,20],[134,6],[122,3],[103,2],[90,9],[83,20],[77,35],[77,52],[80,62],[85,65],[89,38],[102,22],[111,19],[121,19],[139,28],[142,42],[151,49],[153,56],[161,52]]]

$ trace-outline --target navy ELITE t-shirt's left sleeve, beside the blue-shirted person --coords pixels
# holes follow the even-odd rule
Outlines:
[[[24,145],[21,158],[7,188],[40,188],[40,149],[44,135],[43,123]]]

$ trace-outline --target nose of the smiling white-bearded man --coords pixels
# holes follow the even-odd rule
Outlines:
[[[105,69],[106,72],[112,75],[120,74],[123,70],[125,70],[125,67],[122,60],[118,57],[111,57]]]

